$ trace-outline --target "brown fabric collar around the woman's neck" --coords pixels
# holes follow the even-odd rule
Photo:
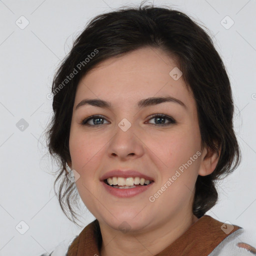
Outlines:
[[[242,227],[220,222],[209,215],[203,215],[174,242],[155,256],[206,256],[224,238],[240,228]],[[231,231],[227,232],[228,230]],[[101,243],[99,223],[95,219],[85,226],[73,240],[68,247],[66,256],[100,256]]]

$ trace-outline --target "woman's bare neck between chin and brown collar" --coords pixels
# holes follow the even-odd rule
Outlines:
[[[100,225],[102,235],[101,256],[112,255],[155,255],[182,235],[198,218],[193,215],[177,215],[163,220],[150,231],[122,233],[119,230]]]

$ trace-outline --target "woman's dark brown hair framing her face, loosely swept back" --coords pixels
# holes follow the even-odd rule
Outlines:
[[[100,61],[145,46],[162,49],[175,57],[196,102],[201,147],[217,153],[221,148],[215,170],[197,177],[194,215],[199,218],[215,205],[218,199],[216,181],[240,163],[240,149],[232,123],[234,106],[230,82],[212,39],[200,25],[181,11],[166,6],[140,4],[100,14],[88,22],[73,42],[54,75],[51,90],[53,115],[46,130],[47,147],[60,166],[54,191],[60,180],[58,200],[68,218],[68,211],[71,213],[72,219],[69,219],[73,222],[76,212],[72,207],[79,196],[75,184],[67,178],[66,163],[71,162],[68,142],[77,84]],[[78,72],[65,80],[74,70]]]

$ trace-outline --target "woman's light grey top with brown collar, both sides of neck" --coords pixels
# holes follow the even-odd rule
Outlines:
[[[242,227],[203,215],[154,256],[256,255],[256,249],[253,247],[255,244],[248,244],[248,240],[249,237]],[[58,246],[51,254],[40,256],[100,256],[101,242],[99,223],[95,219],[85,226],[79,235]]]

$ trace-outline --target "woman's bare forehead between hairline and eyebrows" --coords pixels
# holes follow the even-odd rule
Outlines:
[[[129,105],[141,98],[170,95],[193,108],[195,102],[182,75],[174,80],[169,74],[173,68],[177,68],[174,59],[152,47],[108,58],[81,78],[75,105],[84,97],[107,100],[112,105],[115,102]]]

